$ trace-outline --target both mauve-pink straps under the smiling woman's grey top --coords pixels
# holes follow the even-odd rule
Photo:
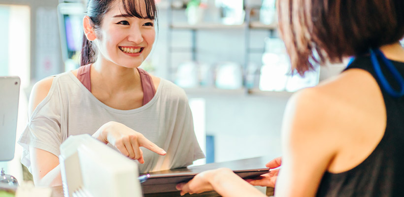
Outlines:
[[[91,64],[80,66],[77,70],[78,80],[91,92],[91,80],[90,80]],[[137,68],[140,74],[140,81],[143,89],[143,105],[153,99],[156,94],[156,88],[154,87],[153,80],[149,73],[141,68]]]

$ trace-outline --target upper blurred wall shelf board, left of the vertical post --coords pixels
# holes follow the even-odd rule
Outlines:
[[[226,30],[226,29],[243,29],[244,24],[241,25],[224,25],[221,23],[199,23],[190,25],[189,23],[173,23],[170,25],[172,29],[185,29],[185,30]]]

